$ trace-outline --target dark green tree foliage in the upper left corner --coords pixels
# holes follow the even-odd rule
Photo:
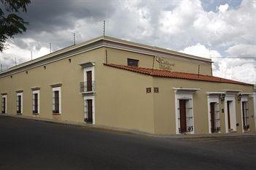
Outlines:
[[[20,18],[17,14],[26,12],[26,6],[30,0],[0,0],[0,52],[5,48],[4,43],[8,38],[13,38],[16,34],[26,31],[29,22]],[[7,13],[4,15],[4,12]]]

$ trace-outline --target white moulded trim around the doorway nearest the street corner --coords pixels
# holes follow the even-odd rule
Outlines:
[[[192,125],[192,131],[189,131],[188,134],[195,134],[195,121],[194,121],[194,112],[193,112],[193,94],[195,91],[200,90],[199,88],[173,88],[175,92],[175,106],[176,106],[176,134],[181,134],[179,131],[180,128],[180,113],[179,113],[179,100],[187,100],[187,107],[190,108],[188,115],[192,117],[192,120],[187,120],[189,125]],[[187,114],[187,113],[186,113]]]

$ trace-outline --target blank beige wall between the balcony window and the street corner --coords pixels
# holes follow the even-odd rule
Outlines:
[[[101,66],[97,74],[96,123],[154,133],[152,77]]]

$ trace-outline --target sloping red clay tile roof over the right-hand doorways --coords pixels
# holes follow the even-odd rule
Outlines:
[[[148,69],[142,67],[135,67],[135,66],[124,66],[118,65],[114,63],[104,63],[105,66],[111,66],[117,69],[124,69],[130,72],[137,72],[141,74],[156,76],[156,77],[168,77],[168,78],[175,78],[175,79],[186,79],[186,80],[198,80],[198,81],[206,81],[206,82],[226,82],[238,85],[251,85],[245,82],[238,82],[234,80],[227,80],[220,77],[208,76],[208,75],[201,75],[201,74],[190,74],[184,72],[170,72],[167,70],[159,70],[159,69]]]

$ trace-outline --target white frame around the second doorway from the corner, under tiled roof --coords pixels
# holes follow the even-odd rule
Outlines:
[[[219,94],[208,94],[208,128],[209,128],[209,134],[211,134],[211,103],[217,104],[217,111],[219,112],[219,118],[220,118],[220,111],[219,111]],[[220,123],[220,120],[219,120]],[[220,131],[219,131],[220,133]]]

